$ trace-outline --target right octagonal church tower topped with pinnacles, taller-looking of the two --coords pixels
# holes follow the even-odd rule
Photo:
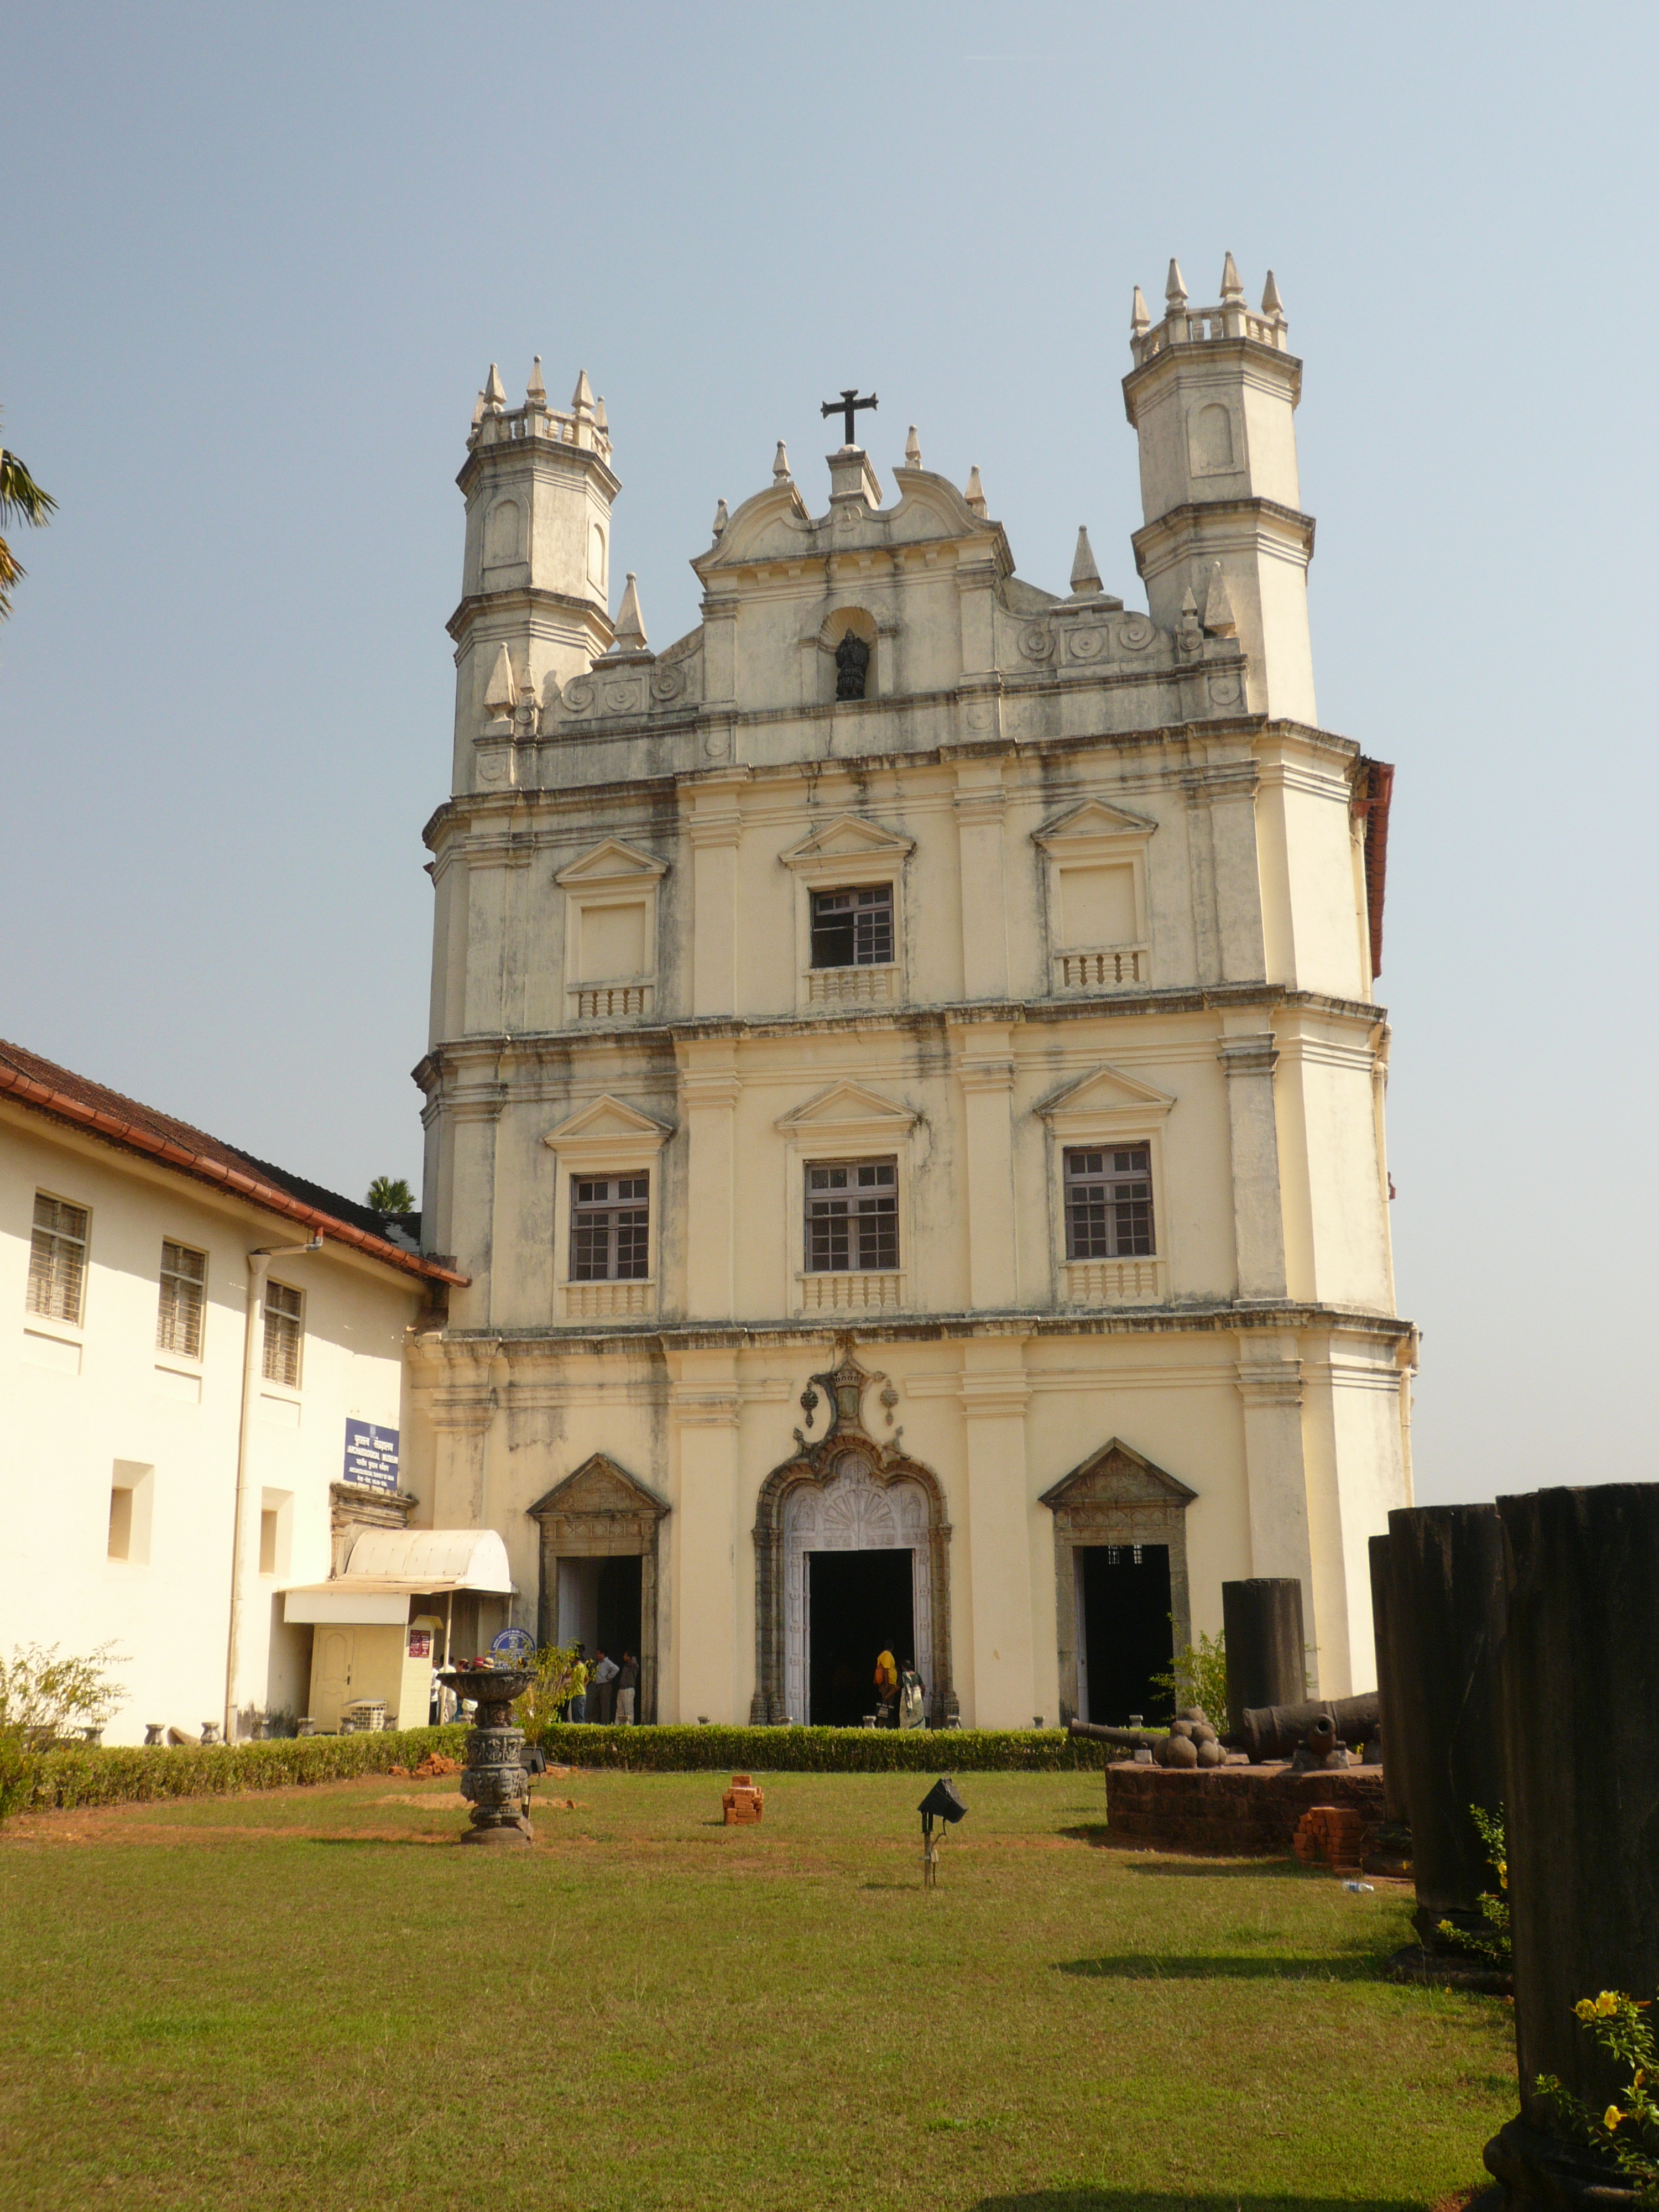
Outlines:
[[[1141,447],[1135,562],[1152,622],[1197,617],[1210,637],[1237,637],[1250,659],[1259,714],[1314,723],[1307,641],[1307,562],[1314,518],[1301,511],[1294,411],[1303,365],[1267,270],[1261,314],[1245,307],[1232,254],[1221,305],[1188,307],[1170,261],[1166,314],[1152,325],[1135,285],[1133,372],[1124,405]]]

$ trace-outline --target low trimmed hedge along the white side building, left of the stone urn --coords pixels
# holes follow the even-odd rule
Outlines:
[[[354,1774],[385,1774],[387,1767],[418,1767],[427,1752],[460,1759],[465,1741],[467,1730],[456,1723],[378,1736],[279,1736],[274,1743],[86,1745],[24,1761],[13,1805],[46,1812],[338,1783]]]

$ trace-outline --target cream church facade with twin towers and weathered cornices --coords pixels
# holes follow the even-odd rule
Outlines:
[[[1272,276],[1130,356],[1146,613],[847,411],[661,653],[586,376],[480,394],[409,1486],[646,1719],[858,1719],[885,1646],[936,1725],[1150,1714],[1241,1575],[1371,1681],[1391,770],[1316,721]]]

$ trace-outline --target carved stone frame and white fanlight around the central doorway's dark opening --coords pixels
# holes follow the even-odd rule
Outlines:
[[[852,1338],[843,1338],[834,1371],[814,1376],[801,1400],[810,1425],[818,1407],[816,1385],[827,1385],[830,1429],[818,1440],[796,1429],[796,1455],[761,1484],[754,1515],[754,1723],[818,1719],[810,1710],[812,1557],[894,1551],[907,1551],[911,1559],[911,1655],[927,1688],[929,1721],[942,1728],[956,1719],[945,1493],[931,1469],[905,1458],[898,1433],[878,1440],[865,1429],[863,1396],[878,1380],[854,1358]],[[865,1663],[863,1692],[872,1688],[878,1648]],[[896,1652],[898,1659],[911,1655]]]

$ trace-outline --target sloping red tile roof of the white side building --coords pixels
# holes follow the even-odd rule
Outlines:
[[[122,1097],[119,1091],[106,1091],[104,1084],[93,1084],[71,1068],[60,1068],[53,1060],[42,1060],[40,1053],[29,1053],[4,1040],[0,1040],[0,1097],[29,1106],[53,1121],[82,1128],[117,1150],[155,1159],[199,1183],[230,1190],[285,1221],[303,1223],[312,1232],[321,1230],[325,1241],[352,1245],[354,1252],[385,1261],[387,1267],[398,1267],[403,1274],[456,1285],[471,1281],[442,1267],[436,1259],[405,1252],[403,1245],[392,1243],[389,1237],[369,1225],[378,1223],[380,1217],[367,1206],[321,1190],[263,1159],[252,1159],[248,1152],[208,1137],[206,1130],[190,1128],[188,1121],[175,1121],[173,1115],[157,1113],[153,1106],[139,1106],[137,1099]]]

